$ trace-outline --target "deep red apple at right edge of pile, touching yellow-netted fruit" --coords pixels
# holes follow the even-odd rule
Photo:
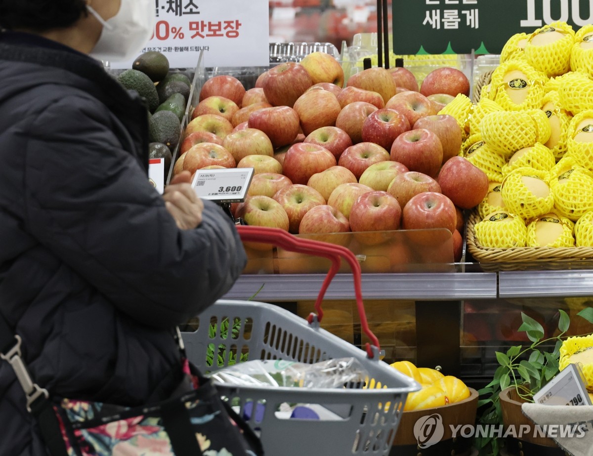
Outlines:
[[[449,158],[436,180],[441,192],[461,209],[477,206],[488,193],[488,176],[464,157]]]

